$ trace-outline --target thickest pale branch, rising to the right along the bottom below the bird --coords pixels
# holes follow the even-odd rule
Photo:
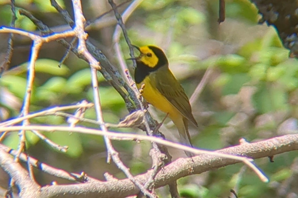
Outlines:
[[[287,151],[298,150],[298,134],[275,137],[255,143],[243,143],[238,146],[219,150],[222,153],[231,153],[248,156],[254,159],[274,156]],[[211,155],[199,155],[191,159],[179,158],[164,167],[155,177],[155,187],[159,188],[179,178],[199,174],[208,170],[236,164],[239,161],[224,159]],[[140,183],[145,184],[153,170],[135,177]],[[101,183],[83,183],[71,185],[45,186],[42,194],[49,197],[126,197],[138,194],[139,189],[129,179],[107,181]]]

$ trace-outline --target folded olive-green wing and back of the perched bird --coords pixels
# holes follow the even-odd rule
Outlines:
[[[160,68],[161,69],[161,68]],[[164,69],[164,68],[163,68]],[[157,90],[189,121],[198,126],[193,117],[189,99],[183,87],[174,77],[172,72],[166,68],[164,71],[155,72],[154,84]]]

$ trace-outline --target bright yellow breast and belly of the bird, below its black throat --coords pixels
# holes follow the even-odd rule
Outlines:
[[[181,117],[181,113],[156,89],[154,88],[149,80],[149,77],[145,77],[142,83],[136,84],[140,89],[144,84],[142,96],[157,109],[168,113],[171,119]]]

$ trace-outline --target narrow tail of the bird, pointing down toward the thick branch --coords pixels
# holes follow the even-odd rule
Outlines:
[[[178,132],[179,132],[179,135],[180,135],[180,142],[184,145],[193,147],[193,145],[190,142],[190,134],[188,132],[188,120],[187,120],[187,118],[183,117],[183,118],[180,118],[180,119],[173,120],[173,122],[178,128]],[[190,152],[187,152],[187,151],[184,151],[184,152],[187,155],[187,157],[193,157],[194,156],[193,153],[190,153]]]

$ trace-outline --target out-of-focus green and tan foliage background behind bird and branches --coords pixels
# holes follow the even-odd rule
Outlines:
[[[72,12],[71,1],[58,1]],[[120,4],[123,1],[115,1]],[[130,4],[119,7],[123,12]],[[94,19],[111,9],[107,0],[84,0],[83,13],[87,20]],[[55,31],[69,26],[49,1],[16,0],[22,7]],[[88,29],[89,39],[120,69],[113,49],[112,35],[116,20],[110,12]],[[16,26],[38,31],[24,16],[17,15]],[[297,132],[298,118],[298,61],[288,58],[273,27],[258,25],[260,16],[248,0],[226,0],[226,20],[218,25],[218,0],[145,0],[126,23],[129,37],[135,45],[153,44],[164,49],[170,69],[192,96],[205,71],[210,75],[203,83],[202,93],[192,100],[193,114],[199,127],[190,124],[195,147],[220,149],[239,144],[240,138],[249,142]],[[10,1],[0,1],[0,26],[9,26]],[[4,59],[8,34],[0,34],[0,59]],[[124,58],[129,58],[123,37],[120,44]],[[27,61],[31,41],[15,35],[10,68],[0,78],[0,121],[19,115],[25,93]],[[83,99],[93,100],[89,65],[70,53],[61,68],[60,59],[66,49],[57,42],[43,45],[36,65],[36,79],[30,111],[56,105],[76,104]],[[133,74],[132,63],[127,62]],[[104,78],[98,77],[104,120],[117,123],[128,114],[122,98]],[[150,106],[152,116],[161,121],[164,114]],[[73,113],[69,111],[69,113]],[[87,110],[86,118],[95,119],[94,109]],[[63,125],[66,119],[58,116],[35,118],[31,123]],[[91,124],[83,126],[96,127]],[[144,134],[137,128],[112,129]],[[160,131],[168,140],[178,142],[178,132],[169,119]],[[31,132],[27,132],[28,153],[52,166],[70,172],[85,171],[104,179],[109,172],[117,178],[124,175],[117,167],[107,164],[102,137],[86,134],[44,133],[49,139],[68,145],[67,153],[50,148]],[[3,140],[5,145],[17,148],[17,132]],[[151,167],[149,142],[113,141],[121,159],[133,174]],[[173,158],[185,157],[184,152],[170,149]],[[178,189],[184,197],[229,197],[235,189],[241,198],[297,198],[298,152],[274,156],[274,163],[258,159],[255,163],[270,179],[262,183],[257,175],[243,164],[235,164],[214,171],[178,180]],[[6,188],[8,177],[0,170],[0,186]],[[36,171],[42,185],[52,180],[67,181]],[[158,190],[160,197],[169,197],[167,187]]]

